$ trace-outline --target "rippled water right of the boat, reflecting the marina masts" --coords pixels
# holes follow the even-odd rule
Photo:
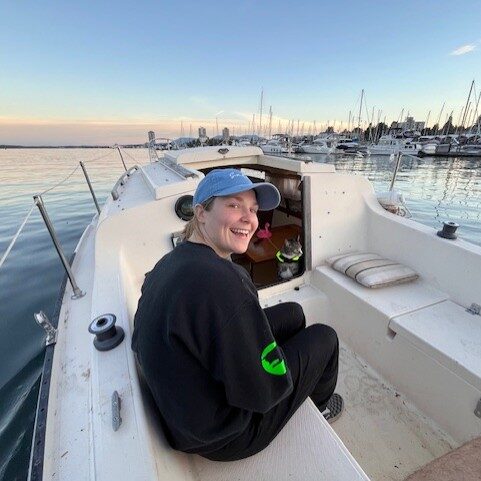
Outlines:
[[[367,177],[376,192],[389,189],[395,162],[388,156],[310,157]],[[481,158],[403,157],[394,187],[414,220],[436,229],[443,221],[458,222],[460,238],[481,245]]]

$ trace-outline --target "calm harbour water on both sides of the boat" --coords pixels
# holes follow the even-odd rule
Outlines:
[[[326,162],[323,156],[310,155]],[[123,172],[111,149],[25,149],[0,151],[0,257],[32,206],[32,195],[65,178],[82,160],[102,204]],[[148,162],[143,149],[126,151],[127,167]],[[366,176],[376,191],[387,190],[388,157],[331,158],[340,171]],[[404,193],[413,219],[440,228],[452,220],[459,235],[481,245],[481,159],[404,159],[396,189]],[[44,202],[67,257],[95,214],[81,169],[46,193]],[[52,316],[63,270],[35,210],[0,269],[0,479],[26,479],[43,333],[33,313]]]

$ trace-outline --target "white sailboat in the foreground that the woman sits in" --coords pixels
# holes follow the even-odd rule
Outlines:
[[[262,271],[259,299],[262,306],[296,301],[308,324],[336,329],[346,405],[329,425],[307,400],[264,451],[224,463],[170,448],[130,348],[145,273],[173,248],[189,216],[188,196],[219,166],[278,186],[281,205],[264,215],[271,230],[290,225],[301,233],[304,256],[299,275],[287,281],[252,265],[254,277]],[[419,277],[365,287],[328,262],[354,252]],[[361,176],[257,147],[165,151],[119,179],[82,235],[71,270],[56,344],[46,353],[31,481],[404,480],[443,462],[471,479],[463,473],[479,467],[481,248],[384,210]],[[111,315],[123,340],[112,327],[101,334]],[[91,322],[97,346],[120,344],[98,350]]]

